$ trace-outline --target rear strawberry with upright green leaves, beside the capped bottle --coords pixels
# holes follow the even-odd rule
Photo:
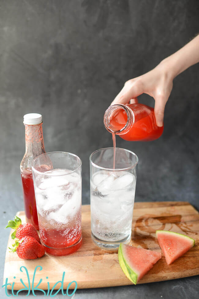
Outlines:
[[[6,228],[7,227],[11,227],[15,230],[11,235],[12,239],[17,238],[20,240],[25,236],[29,236],[35,238],[37,242],[40,243],[39,235],[35,227],[31,223],[21,224],[21,219],[17,216],[14,217],[14,221],[13,220],[8,221]]]

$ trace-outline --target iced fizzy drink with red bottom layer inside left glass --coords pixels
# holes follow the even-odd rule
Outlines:
[[[75,243],[81,236],[80,173],[52,169],[38,175],[35,196],[45,245],[59,248]]]

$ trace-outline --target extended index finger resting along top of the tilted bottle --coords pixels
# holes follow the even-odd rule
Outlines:
[[[125,83],[122,90],[115,97],[111,105],[127,104],[131,99],[136,98],[143,93],[142,85],[139,81],[129,80]]]

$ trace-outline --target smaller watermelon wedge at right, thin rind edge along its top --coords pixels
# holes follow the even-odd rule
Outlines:
[[[195,243],[194,239],[173,231],[156,231],[156,236],[168,265],[187,252]]]

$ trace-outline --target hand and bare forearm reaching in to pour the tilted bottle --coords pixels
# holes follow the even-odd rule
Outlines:
[[[146,93],[155,99],[157,126],[163,126],[164,108],[173,87],[173,79],[191,65],[199,62],[199,34],[180,50],[165,58],[150,72],[128,80],[111,105],[135,103]]]

